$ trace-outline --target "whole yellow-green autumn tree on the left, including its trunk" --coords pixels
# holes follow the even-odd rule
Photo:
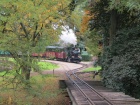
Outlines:
[[[15,77],[21,78],[20,81],[28,82],[30,79],[34,61],[31,54],[37,47],[40,47],[40,44],[45,47],[57,41],[60,26],[66,19],[66,13],[69,12],[67,8],[69,3],[68,0],[0,2],[0,48],[10,52],[14,58]]]

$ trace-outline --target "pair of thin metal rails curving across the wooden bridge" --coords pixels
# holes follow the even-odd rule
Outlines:
[[[74,69],[74,70],[70,70],[66,72],[67,77],[69,78],[69,80],[77,87],[77,89],[82,93],[83,97],[85,97],[85,99],[88,101],[88,103],[90,105],[96,105],[96,103],[94,101],[92,101],[91,97],[89,97],[89,95],[81,88],[81,86],[79,85],[79,83],[81,83],[82,85],[86,86],[87,89],[89,89],[93,94],[96,94],[102,101],[104,101],[106,103],[106,105],[114,105],[107,97],[103,96],[102,94],[100,94],[98,91],[96,91],[93,87],[91,87],[88,83],[86,83],[85,81],[83,81],[82,79],[80,79],[77,75],[76,72],[79,70],[82,70],[84,68],[86,68],[87,65],[82,64],[81,68],[78,69]],[[74,79],[72,78],[72,76],[74,77]]]

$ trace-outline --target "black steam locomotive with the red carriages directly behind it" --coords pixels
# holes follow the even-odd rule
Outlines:
[[[47,46],[45,52],[33,53],[32,56],[76,63],[82,60],[81,51],[78,47]]]

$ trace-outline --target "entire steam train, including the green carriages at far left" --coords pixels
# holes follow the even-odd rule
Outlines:
[[[11,54],[8,51],[0,50],[0,56],[11,56]],[[19,53],[19,57],[21,57],[21,53]],[[76,63],[90,60],[90,55],[87,53],[86,48],[78,45],[71,45],[69,47],[62,47],[58,45],[46,46],[44,52],[33,52],[31,53],[31,57],[42,57],[45,59],[55,59]]]

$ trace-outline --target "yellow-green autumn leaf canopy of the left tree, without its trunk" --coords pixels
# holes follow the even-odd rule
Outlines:
[[[64,9],[68,4],[67,0],[1,0],[1,38],[9,45],[33,47],[41,38],[57,40],[60,33],[57,29],[65,20]]]

